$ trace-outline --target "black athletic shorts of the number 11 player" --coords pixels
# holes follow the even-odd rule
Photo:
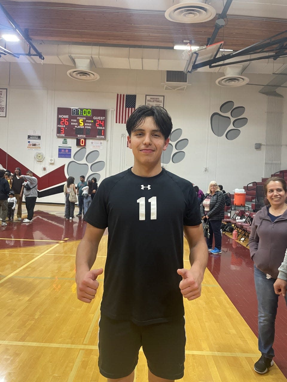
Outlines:
[[[129,376],[142,346],[148,369],[157,377],[180,379],[184,372],[186,343],[184,317],[160,324],[135,325],[101,314],[99,321],[99,371],[106,378]]]

